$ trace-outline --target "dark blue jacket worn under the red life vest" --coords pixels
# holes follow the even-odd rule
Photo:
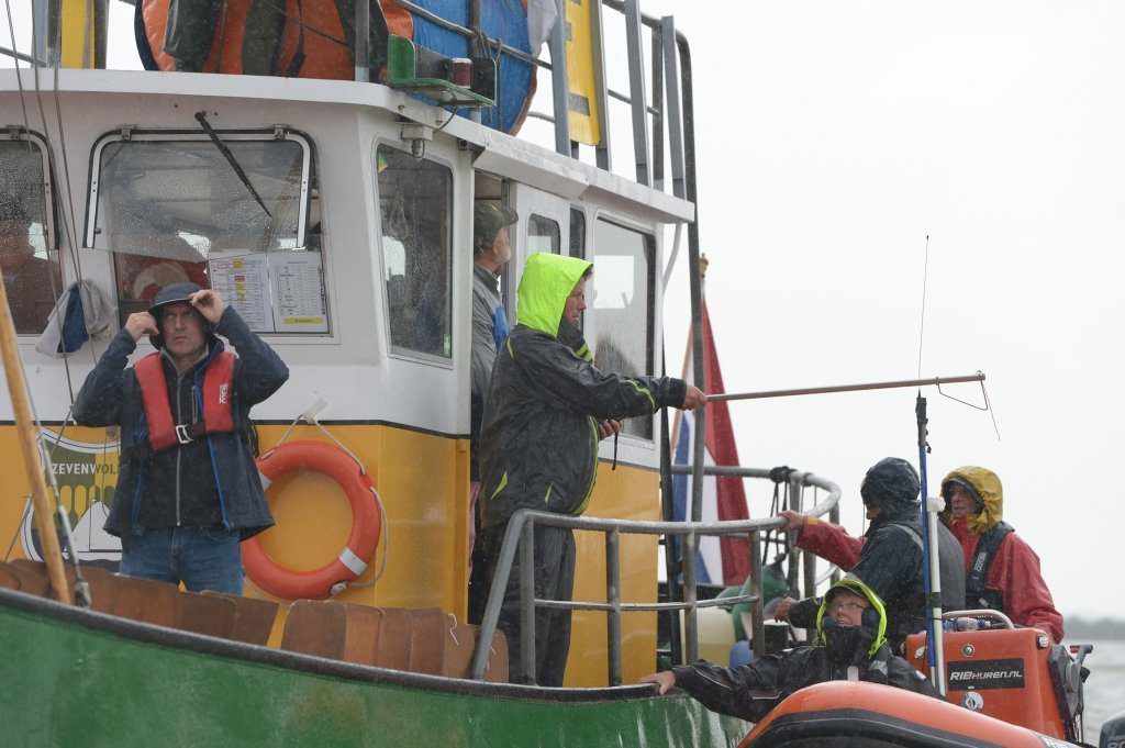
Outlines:
[[[271,526],[273,517],[266,503],[254,456],[240,425],[250,423],[251,406],[261,403],[285,384],[289,378],[289,369],[269,345],[250,331],[233,307],[227,307],[223,312],[218,324],[215,325],[215,332],[230,340],[238,352],[238,359],[234,364],[232,400],[235,430],[209,434],[188,447],[199,449],[204,444],[207,445],[210,457],[207,467],[213,470],[208,478],[212,483],[217,480],[222,522],[226,528],[238,530],[241,538],[245,540]],[[202,381],[207,364],[223,351],[223,342],[212,335],[208,340],[209,352],[206,362],[190,370],[196,372],[197,384]],[[138,453],[132,449],[147,439],[141,386],[133,368],[126,368],[128,357],[134,350],[136,341],[128,331],[122,330],[117,333],[74,400],[74,421],[79,424],[122,427],[117,489],[109,510],[109,519],[106,520],[106,532],[122,538],[143,532],[136,520],[141,508],[140,502],[145,501],[145,496],[142,495],[145,470],[152,462],[152,460],[142,461]],[[168,376],[166,368],[165,376]],[[178,418],[177,423],[183,421]],[[172,447],[169,451],[177,449],[180,448]],[[178,477],[181,481],[197,479],[198,472],[191,470],[183,471]],[[166,480],[162,480],[161,484],[166,485]]]

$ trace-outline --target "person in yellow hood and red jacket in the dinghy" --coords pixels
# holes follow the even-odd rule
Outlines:
[[[1062,641],[1062,614],[1040,571],[1040,557],[1004,522],[1004,486],[981,467],[957,468],[942,480],[942,522],[965,553],[965,605],[992,609],[1017,625]]]

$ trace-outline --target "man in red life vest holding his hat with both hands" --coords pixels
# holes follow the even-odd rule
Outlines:
[[[156,352],[127,367],[142,335]],[[238,543],[273,524],[250,445],[250,408],[288,378],[216,291],[176,283],[148,312],[129,315],[73,411],[81,425],[120,426],[106,531],[122,539],[122,574],[242,593]]]

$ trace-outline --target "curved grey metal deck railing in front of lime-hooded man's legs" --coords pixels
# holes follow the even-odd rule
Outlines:
[[[691,472],[687,466],[673,467],[674,472]],[[709,466],[703,469],[708,476],[738,478],[771,479],[771,470],[741,467]],[[829,515],[835,519],[838,512],[840,490],[832,481],[809,472],[791,472],[789,480],[798,490],[793,493],[794,508],[801,510],[800,488],[812,486],[828,492],[824,501],[810,507],[807,513],[816,516]],[[764,651],[764,615],[762,600],[762,533],[778,530],[785,524],[780,517],[763,517],[758,520],[740,520],[735,522],[644,522],[637,520],[608,520],[600,517],[569,516],[549,512],[521,510],[507,523],[504,543],[493,576],[493,585],[488,595],[484,620],[480,624],[480,636],[472,656],[470,675],[472,679],[484,678],[488,661],[488,642],[492,641],[500,621],[501,606],[504,603],[504,592],[512,576],[512,567],[516,553],[520,553],[520,677],[524,683],[536,682],[536,611],[538,609],[601,611],[608,616],[606,649],[609,652],[609,684],[621,685],[621,614],[638,611],[683,611],[686,659],[693,661],[698,657],[699,641],[695,625],[698,611],[702,607],[728,607],[739,603],[749,603],[754,619],[753,645],[755,655]],[[534,530],[536,528],[564,528],[585,532],[598,532],[605,542],[605,602],[544,600],[534,595]],[[701,537],[745,535],[749,540],[750,553],[750,589],[747,595],[723,597],[721,600],[699,600],[695,567],[684,565],[683,597],[680,601],[664,603],[631,603],[621,601],[621,555],[622,534],[663,535],[665,538],[684,539],[684,548],[693,553]],[[795,550],[795,549],[794,549]],[[686,556],[686,553],[685,553]],[[790,570],[795,578],[798,553],[790,555]],[[818,583],[814,557],[804,555],[806,594],[814,594]],[[654,559],[655,562],[655,559]]]

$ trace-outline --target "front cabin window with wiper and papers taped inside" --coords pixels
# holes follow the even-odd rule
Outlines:
[[[219,291],[254,332],[327,333],[308,142],[285,130],[218,137],[226,153],[195,133],[99,142],[86,244],[114,253],[122,324],[190,281]]]

